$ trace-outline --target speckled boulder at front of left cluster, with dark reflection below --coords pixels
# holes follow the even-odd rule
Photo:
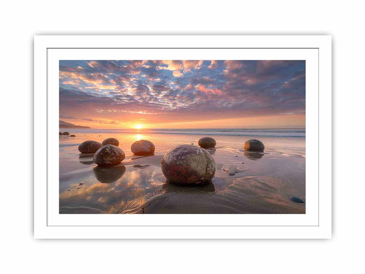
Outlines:
[[[112,166],[119,164],[124,158],[123,150],[115,145],[105,145],[95,152],[93,160],[98,166]]]

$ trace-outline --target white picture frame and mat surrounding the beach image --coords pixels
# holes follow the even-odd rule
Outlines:
[[[58,214],[60,59],[223,58],[306,60],[306,214]],[[331,238],[331,58],[331,36],[35,36],[34,237]]]

